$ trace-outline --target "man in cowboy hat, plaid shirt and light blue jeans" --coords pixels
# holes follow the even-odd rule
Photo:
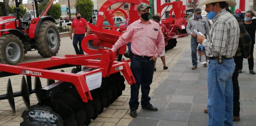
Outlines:
[[[225,10],[226,4],[235,6],[233,0],[206,0],[205,11],[212,16],[213,25],[207,35],[198,36],[198,43],[206,49],[208,67],[209,126],[233,126],[233,84],[235,70],[233,56],[239,44],[239,25],[236,18]],[[199,6],[200,6],[199,5]]]

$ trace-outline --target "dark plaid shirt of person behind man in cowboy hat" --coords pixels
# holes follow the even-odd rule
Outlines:
[[[239,37],[239,44],[237,48],[237,52],[235,57],[243,56],[244,58],[249,57],[250,49],[251,49],[251,37],[244,28],[242,19],[234,12],[227,10],[230,14],[232,14],[238,22],[239,29],[240,29],[240,37]]]

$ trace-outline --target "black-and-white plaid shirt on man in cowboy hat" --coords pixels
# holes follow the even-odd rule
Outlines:
[[[213,18],[212,28],[203,40],[202,45],[206,49],[208,57],[225,56],[232,58],[238,48],[239,25],[236,18],[225,9],[219,11]]]

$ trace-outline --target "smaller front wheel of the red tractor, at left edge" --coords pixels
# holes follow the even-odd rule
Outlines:
[[[17,36],[5,34],[0,37],[0,63],[17,65],[22,62],[23,57],[24,45]]]

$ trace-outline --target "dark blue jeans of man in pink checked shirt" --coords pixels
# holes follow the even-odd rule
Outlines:
[[[150,84],[153,80],[154,61],[150,58],[142,58],[132,56],[131,71],[136,80],[136,83],[131,85],[131,98],[129,101],[130,109],[137,110],[139,107],[139,90],[141,86],[141,106],[150,104]]]

